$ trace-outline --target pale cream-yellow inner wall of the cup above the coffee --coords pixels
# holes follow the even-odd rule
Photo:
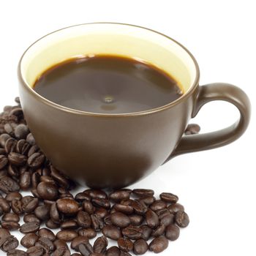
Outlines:
[[[89,23],[42,37],[26,50],[20,62],[23,80],[32,87],[42,72],[77,56],[115,54],[154,64],[176,79],[184,92],[196,78],[192,56],[162,34],[118,23]]]

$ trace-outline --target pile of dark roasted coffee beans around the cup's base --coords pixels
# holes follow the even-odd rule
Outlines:
[[[86,189],[73,196],[75,182],[40,151],[15,101],[0,114],[0,249],[7,255],[69,256],[69,246],[77,251],[72,256],[159,253],[189,225],[184,206],[169,192],[159,199],[151,189]],[[20,244],[26,249],[16,249],[12,230],[23,233]],[[108,248],[108,239],[117,246]]]

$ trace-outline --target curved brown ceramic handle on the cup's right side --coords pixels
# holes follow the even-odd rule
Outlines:
[[[232,143],[234,140],[237,140],[245,132],[249,124],[251,112],[249,98],[244,91],[229,83],[211,83],[205,86],[200,86],[195,100],[192,118],[197,115],[203,105],[214,100],[225,100],[226,102],[235,105],[240,112],[240,118],[230,127],[220,129],[216,132],[208,132],[198,135],[183,135],[178,146],[176,146],[173,153],[170,154],[165,162],[179,154],[225,146]]]

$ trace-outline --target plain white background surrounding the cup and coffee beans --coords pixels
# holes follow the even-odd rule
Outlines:
[[[228,82],[246,91],[252,121],[235,143],[176,157],[132,187],[176,193],[189,214],[189,227],[162,255],[255,255],[255,11],[253,1],[246,0],[1,1],[0,107],[11,105],[18,95],[16,69],[23,50],[51,31],[111,21],[173,37],[197,59],[200,84]],[[212,102],[194,121],[208,132],[236,118],[232,105]]]

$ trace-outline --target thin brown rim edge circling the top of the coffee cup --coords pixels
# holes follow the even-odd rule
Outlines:
[[[146,29],[148,31],[151,31],[151,32],[159,34],[163,37],[166,37],[167,39],[170,39],[171,41],[175,42],[178,46],[183,48],[188,53],[189,57],[192,59],[193,63],[195,64],[195,80],[193,81],[193,83],[189,87],[189,89],[181,97],[178,97],[178,99],[174,100],[173,102],[169,102],[169,103],[167,103],[165,105],[162,105],[160,107],[157,107],[157,108],[151,108],[149,110],[143,110],[143,111],[131,112],[131,113],[94,113],[94,112],[87,112],[87,111],[83,111],[83,110],[76,110],[76,109],[73,109],[73,108],[67,108],[67,107],[59,105],[57,103],[51,102],[49,99],[46,99],[45,97],[42,97],[40,94],[37,94],[37,92],[34,91],[34,89],[32,89],[31,86],[29,86],[28,83],[26,83],[26,80],[23,79],[23,75],[21,74],[21,67],[20,66],[21,66],[21,61],[23,60],[23,56],[25,56],[26,52],[33,45],[35,45],[37,42],[39,42],[39,40],[41,40],[45,37],[48,37],[48,35],[50,35],[50,34],[54,34],[58,31],[61,31],[61,30],[64,30],[64,29],[69,29],[69,28],[72,28],[72,27],[75,27],[75,26],[84,26],[84,25],[89,25],[89,24],[117,24],[117,25],[124,25],[124,26],[134,26],[134,27],[137,27],[137,28],[140,28],[140,29]],[[151,113],[157,113],[161,110],[167,110],[167,108],[171,108],[174,105],[177,105],[178,103],[180,103],[181,101],[187,99],[197,88],[199,78],[200,78],[200,69],[199,69],[199,66],[197,64],[197,61],[196,61],[195,57],[192,55],[192,53],[190,53],[189,50],[187,50],[187,48],[184,47],[184,45],[181,45],[181,43],[177,42],[175,39],[173,39],[171,37],[168,37],[167,35],[162,34],[158,31],[155,31],[154,29],[148,29],[148,28],[143,27],[143,26],[137,26],[137,25],[133,25],[133,24],[129,24],[129,23],[92,22],[92,23],[80,23],[80,24],[73,25],[73,26],[67,26],[67,27],[64,27],[62,29],[57,29],[57,30],[52,31],[48,34],[45,34],[45,36],[40,37],[35,42],[33,42],[31,45],[29,45],[29,47],[24,51],[23,55],[20,57],[20,61],[18,62],[18,79],[20,80],[20,83],[22,83],[24,88],[29,91],[30,94],[33,94],[34,97],[37,97],[37,99],[40,102],[42,102],[42,103],[44,103],[44,104],[46,104],[50,107],[57,108],[59,110],[63,110],[63,111],[68,112],[68,113],[75,113],[75,114],[80,114],[80,115],[84,115],[84,116],[103,116],[103,117],[143,116],[143,115],[147,115],[147,114],[151,114]]]

